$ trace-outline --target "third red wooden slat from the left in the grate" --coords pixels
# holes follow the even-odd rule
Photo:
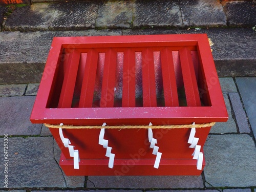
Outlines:
[[[114,106],[116,59],[116,51],[113,49],[106,51],[100,98],[101,108],[112,108]]]

